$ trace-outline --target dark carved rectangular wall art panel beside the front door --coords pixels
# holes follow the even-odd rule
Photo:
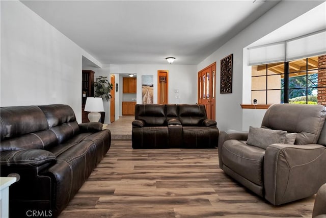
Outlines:
[[[221,60],[221,94],[232,93],[232,58],[233,54]]]

